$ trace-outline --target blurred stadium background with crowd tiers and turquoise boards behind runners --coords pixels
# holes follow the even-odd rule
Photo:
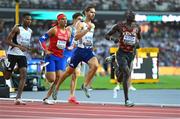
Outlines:
[[[7,50],[3,41],[17,20],[16,3],[17,0],[0,0],[0,19],[4,21],[0,33],[1,50]],[[29,12],[33,17],[33,50],[28,59],[43,58],[38,39],[51,27],[57,13],[64,12],[71,23],[71,15],[82,11],[87,4],[96,5],[94,43],[104,71],[101,75],[109,76],[109,66],[104,60],[110,54],[109,49],[116,47],[105,40],[104,34],[117,21],[123,20],[129,8],[136,12],[136,21],[141,25],[141,47],[159,48],[160,75],[180,75],[180,0],[19,0],[19,15]]]

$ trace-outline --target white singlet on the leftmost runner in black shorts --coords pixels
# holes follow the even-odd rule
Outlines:
[[[30,46],[32,30],[28,28],[27,30],[23,28],[23,26],[18,26],[20,33],[15,34],[12,39],[12,42],[15,44],[20,44],[25,47]],[[9,46],[7,54],[10,55],[18,55],[18,56],[26,56],[26,52],[21,51],[18,47]]]

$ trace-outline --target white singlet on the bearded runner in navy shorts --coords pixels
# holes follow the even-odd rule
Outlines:
[[[88,25],[83,22],[83,29],[86,30]],[[78,40],[78,47],[80,48],[93,48],[93,35],[94,35],[94,28],[91,28],[89,32],[87,32],[81,40]]]

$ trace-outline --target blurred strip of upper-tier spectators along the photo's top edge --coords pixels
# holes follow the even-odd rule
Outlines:
[[[180,0],[19,0],[21,8],[82,10],[87,4],[97,10],[180,11]],[[15,6],[15,0],[0,0],[1,8]]]

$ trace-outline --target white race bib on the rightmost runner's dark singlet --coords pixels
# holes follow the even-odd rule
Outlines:
[[[123,40],[127,45],[134,45],[136,43],[136,37],[132,35],[125,35]]]

